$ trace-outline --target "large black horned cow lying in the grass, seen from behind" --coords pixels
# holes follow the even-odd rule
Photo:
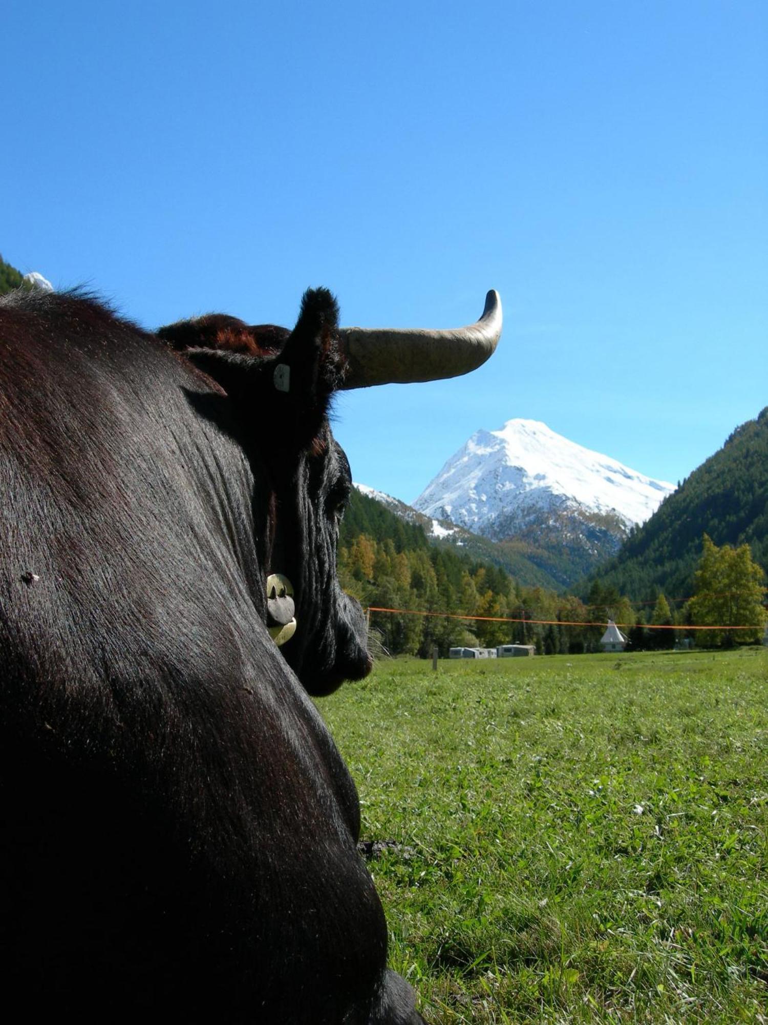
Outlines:
[[[350,475],[327,413],[339,387],[469,369],[500,329],[493,295],[460,342],[338,329],[325,290],[293,332],[0,300],[6,1007],[421,1021],[307,696],[371,667],[336,579]],[[404,344],[426,354],[407,370]],[[449,368],[439,344],[470,355]]]

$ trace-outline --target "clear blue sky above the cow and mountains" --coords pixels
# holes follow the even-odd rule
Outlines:
[[[768,404],[765,0],[6,5],[0,252],[155,327],[453,327],[492,361],[341,397],[413,500],[516,416],[676,482]]]

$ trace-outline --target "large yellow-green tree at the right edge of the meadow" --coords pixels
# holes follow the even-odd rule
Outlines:
[[[696,626],[749,626],[752,629],[701,630],[699,642],[708,646],[732,646],[760,640],[766,622],[763,608],[764,573],[752,558],[749,544],[718,547],[703,535],[695,574],[694,597],[688,607]]]

